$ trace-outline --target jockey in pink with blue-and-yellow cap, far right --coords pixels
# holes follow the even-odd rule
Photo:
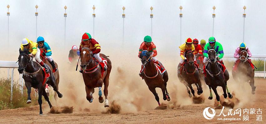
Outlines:
[[[251,52],[249,51],[248,47],[246,46],[245,43],[241,43],[239,47],[236,48],[236,52],[234,53],[234,58],[236,58],[236,62],[234,63],[234,66],[233,66],[233,71],[236,72],[237,70],[237,67],[240,63],[240,52],[241,51],[247,51],[248,53],[248,57],[252,57],[252,54]],[[253,64],[251,63],[251,59],[248,59],[248,63],[250,64],[251,67],[253,67],[254,69],[254,66]]]

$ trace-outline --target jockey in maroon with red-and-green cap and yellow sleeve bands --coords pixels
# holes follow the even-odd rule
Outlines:
[[[91,35],[89,33],[84,33],[82,35],[82,40],[81,43],[79,45],[79,51],[77,51],[77,54],[80,56],[80,51],[81,49],[85,46],[88,45],[93,57],[98,61],[98,62],[103,62],[102,58],[100,57],[100,51],[101,51],[101,46],[100,44],[93,38],[91,38]],[[107,68],[104,67],[104,70],[106,71]],[[79,70],[80,73],[83,72],[83,70]]]

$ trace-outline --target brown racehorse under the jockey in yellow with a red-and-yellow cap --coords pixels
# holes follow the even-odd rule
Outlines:
[[[200,81],[200,72],[199,70],[195,67],[194,65],[194,54],[191,50],[187,50],[185,52],[187,62],[182,67],[182,72],[178,73],[178,79],[180,82],[182,82],[186,88],[187,88],[187,93],[189,94],[189,97],[192,97],[192,95],[195,97],[195,91],[192,88],[192,84],[194,83],[197,86],[197,94],[200,95],[202,91],[201,87],[201,81]],[[179,67],[178,67],[179,68]],[[178,71],[180,71],[178,69]],[[190,94],[190,91],[188,89],[190,88],[192,95]]]

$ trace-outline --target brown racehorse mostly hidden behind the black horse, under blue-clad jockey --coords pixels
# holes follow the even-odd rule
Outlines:
[[[43,50],[41,50],[41,49],[40,49],[40,51],[41,51],[40,59],[41,59],[46,65],[48,65],[50,68],[53,68],[52,65],[50,64],[49,60],[45,57],[45,56],[46,56],[45,52],[44,52]],[[58,68],[57,63],[54,62],[54,64],[55,64],[55,66]],[[52,70],[52,69],[51,69],[51,70]],[[56,72],[54,72],[54,77],[55,77],[55,86],[57,87],[57,90],[59,90],[59,87],[58,87],[58,85],[59,85],[59,70],[56,71]],[[49,92],[48,92],[47,94],[49,94]],[[48,96],[49,96],[49,95],[48,95]],[[58,100],[58,97],[57,97],[57,96],[58,96],[57,93],[54,92],[54,99],[55,99],[56,103],[57,103],[57,100]]]

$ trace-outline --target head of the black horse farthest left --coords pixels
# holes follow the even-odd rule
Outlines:
[[[30,61],[30,57],[28,56],[28,49],[23,49],[23,51],[19,48],[19,56],[18,56],[18,72],[20,74],[23,73],[25,68],[27,67]]]

